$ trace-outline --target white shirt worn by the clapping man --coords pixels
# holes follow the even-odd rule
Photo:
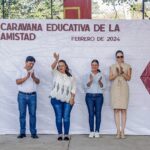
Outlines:
[[[32,70],[30,72],[32,72]],[[27,73],[28,71],[25,68],[20,69],[17,72],[16,79],[21,79],[21,78],[26,77]],[[37,74],[35,71],[34,71],[34,74],[37,77]],[[32,93],[32,92],[36,92],[36,87],[37,87],[37,84],[33,81],[32,77],[30,76],[25,82],[18,85],[18,90],[24,93]]]

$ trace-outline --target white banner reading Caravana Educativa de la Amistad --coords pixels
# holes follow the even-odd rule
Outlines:
[[[72,134],[89,133],[88,112],[82,77],[98,59],[107,79],[102,110],[101,133],[116,133],[110,106],[109,67],[121,49],[132,66],[127,134],[150,135],[150,94],[140,79],[150,61],[150,21],[106,20],[0,20],[0,134],[19,132],[16,72],[25,58],[36,58],[41,80],[38,86],[38,133],[57,133],[50,104],[52,86],[50,64],[53,53],[65,59],[77,79],[76,103],[71,113]],[[29,121],[27,115],[27,131]]]

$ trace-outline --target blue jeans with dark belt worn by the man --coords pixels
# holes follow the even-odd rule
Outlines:
[[[30,132],[36,134],[36,93],[27,95],[18,93],[18,107],[19,107],[19,120],[20,120],[20,134],[26,133],[26,110],[28,106],[29,120],[30,120]]]

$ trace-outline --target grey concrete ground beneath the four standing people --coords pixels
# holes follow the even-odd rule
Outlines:
[[[127,136],[116,139],[103,135],[89,139],[88,135],[72,135],[70,141],[57,141],[56,135],[39,135],[32,139],[28,135],[17,139],[17,135],[1,135],[0,150],[150,150],[150,136]]]

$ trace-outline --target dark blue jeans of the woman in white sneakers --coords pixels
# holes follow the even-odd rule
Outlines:
[[[101,124],[101,110],[103,105],[103,94],[86,94],[86,104],[89,112],[89,125],[91,132],[99,132]],[[96,128],[94,130],[94,116],[96,117]]]

